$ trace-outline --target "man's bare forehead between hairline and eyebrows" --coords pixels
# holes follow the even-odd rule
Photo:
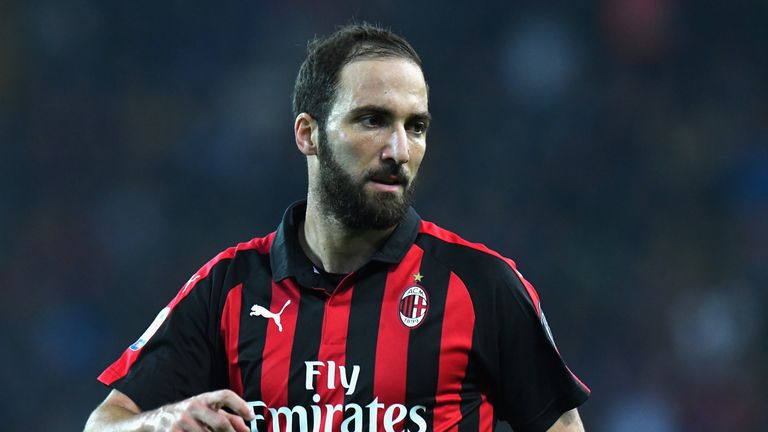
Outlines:
[[[400,58],[365,59],[344,66],[332,112],[366,105],[396,113],[426,112],[427,84],[421,68]]]

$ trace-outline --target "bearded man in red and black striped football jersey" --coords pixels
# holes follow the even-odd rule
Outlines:
[[[101,374],[86,430],[583,430],[589,390],[533,287],[410,207],[427,99],[389,31],[312,42],[294,90],[306,201],[190,278]]]

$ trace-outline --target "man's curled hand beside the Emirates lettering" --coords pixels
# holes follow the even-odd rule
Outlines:
[[[229,409],[234,414],[224,410]],[[158,430],[174,432],[250,432],[245,420],[254,419],[253,409],[235,392],[218,390],[165,405],[153,415]]]

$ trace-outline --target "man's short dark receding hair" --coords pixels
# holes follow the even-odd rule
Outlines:
[[[293,117],[305,112],[324,127],[336,98],[341,69],[360,58],[403,58],[421,68],[405,38],[372,24],[348,24],[307,45],[307,57],[293,87]]]

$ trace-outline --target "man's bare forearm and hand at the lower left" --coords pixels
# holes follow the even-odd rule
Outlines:
[[[253,410],[231,390],[203,393],[146,412],[124,393],[112,390],[91,413],[85,432],[249,432],[243,419],[253,418]]]

